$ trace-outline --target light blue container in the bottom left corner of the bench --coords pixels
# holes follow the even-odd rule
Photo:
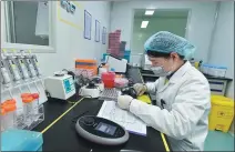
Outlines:
[[[1,151],[42,151],[42,133],[27,130],[8,130],[1,133]]]

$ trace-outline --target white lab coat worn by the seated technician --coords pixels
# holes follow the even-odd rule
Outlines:
[[[156,104],[133,100],[130,111],[168,136],[173,151],[203,151],[208,132],[211,91],[206,78],[187,61],[165,84],[165,78],[146,83]],[[165,101],[164,109],[161,100]]]

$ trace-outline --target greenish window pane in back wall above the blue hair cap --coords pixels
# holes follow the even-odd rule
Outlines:
[[[170,31],[185,37],[186,18],[152,18],[146,29],[141,29],[143,19],[135,18],[132,33],[132,52],[143,53],[145,41],[157,31]]]

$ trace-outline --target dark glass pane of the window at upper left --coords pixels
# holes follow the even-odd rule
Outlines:
[[[39,3],[48,4],[44,2],[34,1],[13,1],[8,3],[8,17],[9,17],[9,31],[10,41],[12,43],[23,43],[23,44],[38,44],[38,45],[49,45],[48,34],[35,34],[37,32],[37,18],[39,11]],[[48,8],[48,6],[45,7]],[[40,9],[40,12],[44,16],[41,23],[48,33],[48,11],[49,9]],[[42,29],[43,30],[43,29]]]

